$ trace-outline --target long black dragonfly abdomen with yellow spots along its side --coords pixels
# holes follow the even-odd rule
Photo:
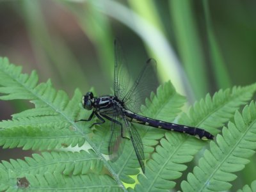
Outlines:
[[[138,115],[136,113],[132,113],[131,111],[126,111],[126,116],[129,117],[129,120],[134,123],[148,125],[159,129],[166,129],[168,131],[184,132],[186,134],[193,135],[201,140],[213,140],[214,138],[211,133],[205,131],[204,129],[163,122],[161,120],[155,120],[152,118]]]

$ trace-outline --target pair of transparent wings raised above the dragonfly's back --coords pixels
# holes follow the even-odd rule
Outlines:
[[[140,112],[141,104],[158,86],[156,60],[149,59],[142,68],[136,81],[132,81],[127,70],[126,60],[119,40],[115,40],[114,92],[118,99],[133,112]]]

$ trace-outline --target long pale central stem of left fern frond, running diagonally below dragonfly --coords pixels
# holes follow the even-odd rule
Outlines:
[[[4,71],[5,72],[5,71]],[[111,165],[108,163],[108,161],[104,158],[104,156],[102,156],[102,154],[100,153],[100,151],[97,149],[96,145],[90,140],[90,138],[88,138],[88,136],[86,136],[86,134],[84,134],[83,131],[81,131],[79,129],[79,127],[77,127],[77,125],[74,123],[74,121],[70,120],[68,118],[68,116],[66,116],[62,110],[59,110],[57,108],[55,108],[52,104],[50,104],[49,102],[47,102],[47,100],[44,100],[42,97],[40,97],[40,95],[36,94],[33,92],[33,90],[29,89],[26,85],[26,82],[28,81],[28,79],[26,79],[26,81],[24,82],[24,84],[20,83],[19,81],[17,81],[17,79],[19,79],[19,77],[17,77],[17,79],[15,77],[10,76],[10,74],[8,74],[8,72],[5,72],[7,74],[7,76],[9,76],[11,79],[14,79],[14,81],[17,82],[17,84],[20,84],[21,87],[23,87],[25,90],[27,90],[27,92],[31,93],[31,95],[34,95],[36,98],[42,100],[45,104],[47,104],[48,106],[50,106],[52,109],[54,109],[54,111],[56,111],[57,113],[60,113],[61,116],[63,116],[67,122],[69,122],[70,124],[72,124],[74,127],[76,127],[77,131],[82,134],[84,136],[84,139],[89,143],[89,145],[91,145],[91,147],[93,148],[93,150],[95,151],[95,153],[97,154],[97,156],[100,157],[100,159],[102,160],[102,162],[104,163],[104,165],[108,168],[109,172],[111,173],[111,175],[113,176],[113,178],[116,180],[116,182],[118,183],[118,185],[123,189],[123,191],[127,191],[127,189],[125,189],[124,184],[122,183],[122,181],[119,179],[118,175],[116,175],[115,171],[113,170],[113,168],[111,167]],[[21,81],[22,82],[22,81]]]

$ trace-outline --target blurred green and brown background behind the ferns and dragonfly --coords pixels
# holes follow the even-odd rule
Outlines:
[[[24,72],[37,70],[41,82],[51,78],[70,96],[92,86],[106,94],[118,37],[132,75],[155,58],[159,83],[170,79],[193,103],[220,88],[255,83],[255,7],[256,1],[232,0],[0,1],[0,56]],[[29,107],[0,104],[1,120]],[[1,159],[17,156],[1,153]],[[255,171],[250,163],[236,184],[249,184]]]

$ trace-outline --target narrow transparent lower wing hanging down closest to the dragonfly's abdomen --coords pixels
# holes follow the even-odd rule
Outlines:
[[[144,156],[143,143],[141,141],[140,134],[132,126],[131,122],[129,122],[126,118],[125,118],[125,125],[126,125],[126,128],[127,128],[127,131],[129,132],[129,135],[130,135],[130,138],[131,138],[131,141],[132,141],[132,145],[134,147],[134,150],[136,152],[136,156],[137,156],[138,161],[139,161],[140,166],[141,166],[141,170],[142,170],[143,173],[145,173],[145,165],[144,165],[145,156]]]

